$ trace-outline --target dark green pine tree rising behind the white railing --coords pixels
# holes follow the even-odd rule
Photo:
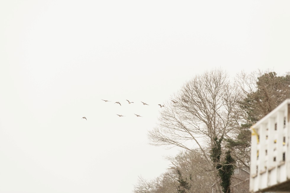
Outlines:
[[[245,122],[241,124],[237,138],[226,139],[227,147],[233,152],[234,158],[239,159],[247,167],[249,167],[249,147],[251,146],[249,128],[285,99],[290,98],[289,72],[278,76],[276,72],[266,71],[256,73],[254,76],[257,77],[255,84],[251,86],[250,92],[245,92],[244,98],[239,101],[241,110],[246,114]],[[251,85],[251,81],[255,80],[248,78],[246,85]]]

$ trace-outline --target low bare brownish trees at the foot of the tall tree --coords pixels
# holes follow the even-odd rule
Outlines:
[[[199,150],[196,150],[197,152]],[[191,193],[208,193],[212,190],[215,180],[211,166],[204,157],[192,151],[181,151],[174,157],[167,157],[171,162],[170,168],[159,177],[146,180],[138,178],[134,186],[134,193],[177,193],[180,182],[183,180],[190,187]],[[178,172],[181,175],[178,175]]]

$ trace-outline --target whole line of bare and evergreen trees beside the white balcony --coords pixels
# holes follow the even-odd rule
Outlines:
[[[205,71],[173,94],[149,131],[152,145],[178,146],[169,169],[138,177],[134,193],[231,193],[234,168],[250,167],[250,126],[290,98],[290,72]]]

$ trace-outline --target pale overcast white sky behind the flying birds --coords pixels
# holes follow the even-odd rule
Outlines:
[[[157,104],[215,67],[289,71],[289,10],[265,0],[0,1],[0,192],[128,193],[138,176],[159,176],[178,149],[148,144]]]

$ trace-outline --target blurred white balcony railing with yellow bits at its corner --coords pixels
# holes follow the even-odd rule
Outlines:
[[[251,192],[290,192],[290,99],[251,127]]]

